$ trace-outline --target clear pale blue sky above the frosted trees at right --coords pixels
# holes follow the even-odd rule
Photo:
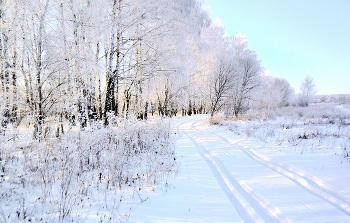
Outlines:
[[[309,73],[317,94],[350,94],[349,0],[205,0],[227,35],[241,32],[272,76],[295,90]]]

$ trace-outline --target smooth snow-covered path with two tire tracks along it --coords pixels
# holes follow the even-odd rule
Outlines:
[[[206,119],[176,120],[181,172],[147,194],[130,222],[350,222],[350,196],[338,185],[275,160],[283,152],[271,159],[258,140]]]

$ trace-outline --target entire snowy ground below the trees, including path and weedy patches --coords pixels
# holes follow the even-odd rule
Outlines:
[[[49,170],[37,171],[52,182],[36,186],[25,186],[29,176],[36,175],[17,169],[1,181],[0,222],[350,222],[349,110],[337,105],[313,106],[289,108],[289,113],[270,111],[258,119],[251,113],[246,116],[249,120],[214,125],[208,115],[172,118],[174,158],[171,154],[153,158],[162,157],[158,151],[165,151],[159,147],[165,142],[154,144],[158,135],[168,134],[159,125],[152,127],[152,134],[142,128],[116,129],[116,136],[129,135],[133,143],[140,143],[136,139],[141,137],[146,143],[153,142],[153,149],[148,155],[135,153],[124,166],[123,156],[109,150],[98,150],[105,153],[100,157],[105,161],[82,153],[90,166],[75,165],[65,175],[57,173],[65,177],[61,181],[54,180],[55,174],[44,176],[52,174]],[[98,133],[103,135],[103,131]],[[84,134],[83,145],[94,145],[96,133]],[[103,137],[98,138],[103,144]],[[117,158],[115,163],[122,166],[114,167],[111,163]],[[19,156],[11,165],[21,162]],[[95,168],[99,162],[101,167]],[[160,168],[164,165],[167,171]],[[131,173],[118,187],[106,177],[98,178],[103,168],[103,176],[113,175],[113,168]],[[130,182],[130,176],[150,171],[148,177]],[[72,178],[76,173],[78,177]],[[70,187],[67,181],[71,179],[81,184]],[[63,192],[66,196],[61,196]],[[43,197],[45,201],[40,200]],[[63,219],[62,213],[66,214]]]

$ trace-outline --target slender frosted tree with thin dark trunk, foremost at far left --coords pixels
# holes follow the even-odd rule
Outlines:
[[[45,117],[54,114],[54,105],[63,100],[58,91],[65,83],[58,75],[64,69],[64,63],[56,45],[56,30],[50,24],[54,17],[51,3],[37,0],[33,4],[25,2],[21,5],[19,69],[24,78],[26,103],[33,118],[33,137],[39,140],[44,137]]]

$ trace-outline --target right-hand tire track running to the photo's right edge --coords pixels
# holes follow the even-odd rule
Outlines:
[[[244,146],[240,143],[243,140],[239,140],[237,142],[231,142],[228,138],[216,134],[210,131],[212,134],[220,137],[224,142],[227,142],[231,145],[237,145],[238,148],[244,152],[248,157],[255,160],[256,162],[262,164],[263,166],[273,170],[276,173],[279,173],[291,181],[293,181],[296,185],[308,191],[309,193],[315,195],[316,197],[326,201],[333,207],[342,211],[346,215],[350,216],[350,202],[347,197],[343,195],[342,192],[336,191],[336,189],[321,179],[307,174],[299,169],[296,169],[287,164],[274,161],[262,154],[257,153],[253,149]]]

